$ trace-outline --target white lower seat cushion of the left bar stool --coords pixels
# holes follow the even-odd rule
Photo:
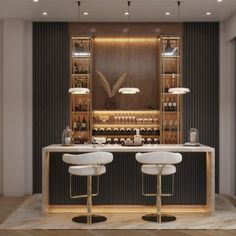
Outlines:
[[[80,176],[94,176],[102,175],[106,172],[106,167],[103,165],[84,165],[84,166],[70,166],[69,173]]]

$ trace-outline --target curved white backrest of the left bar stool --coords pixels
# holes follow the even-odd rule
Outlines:
[[[72,165],[101,165],[112,162],[113,154],[110,152],[89,152],[84,154],[64,154],[62,159]]]

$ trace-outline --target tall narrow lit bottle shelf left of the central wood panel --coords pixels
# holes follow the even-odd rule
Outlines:
[[[71,38],[71,87],[91,89],[91,37]],[[71,127],[76,144],[91,140],[91,94],[71,95]]]

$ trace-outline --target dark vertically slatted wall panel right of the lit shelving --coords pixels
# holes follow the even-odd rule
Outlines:
[[[185,23],[183,84],[184,130],[199,130],[200,142],[216,148],[216,192],[219,192],[219,23]]]

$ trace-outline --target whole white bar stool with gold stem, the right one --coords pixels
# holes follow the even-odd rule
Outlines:
[[[174,193],[174,173],[177,164],[182,161],[180,153],[172,152],[150,152],[150,153],[137,153],[136,160],[142,163],[142,195],[156,197],[156,214],[148,214],[142,217],[143,220],[152,222],[169,222],[175,221],[176,217],[172,215],[161,214],[161,197],[172,196]],[[156,193],[144,193],[143,190],[143,174],[156,175],[157,186]],[[161,177],[162,175],[172,175],[172,193],[162,193]]]

